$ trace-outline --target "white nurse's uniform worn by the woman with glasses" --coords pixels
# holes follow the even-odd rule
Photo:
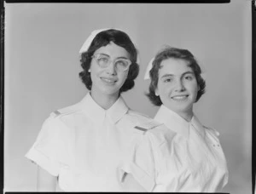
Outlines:
[[[78,104],[50,114],[26,157],[58,176],[60,191],[123,191],[119,166],[142,134],[134,127],[148,121],[121,96],[106,111],[88,93]]]

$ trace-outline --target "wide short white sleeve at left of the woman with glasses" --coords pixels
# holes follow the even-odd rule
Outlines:
[[[28,159],[54,176],[59,174],[61,164],[67,157],[67,144],[63,140],[65,133],[60,133],[62,128],[55,117],[47,118],[37,140],[26,153]]]

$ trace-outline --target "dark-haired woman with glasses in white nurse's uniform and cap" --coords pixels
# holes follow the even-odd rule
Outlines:
[[[120,95],[134,86],[137,49],[124,31],[103,29],[92,31],[80,54],[89,92],[50,114],[26,157],[38,164],[38,191],[125,191],[123,154],[141,134],[134,127],[151,121]]]

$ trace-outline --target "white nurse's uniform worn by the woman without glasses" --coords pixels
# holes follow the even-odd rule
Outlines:
[[[147,191],[216,192],[228,182],[228,168],[215,129],[202,126],[197,117],[187,122],[160,106],[154,120],[163,125],[145,131],[127,154],[127,173]]]

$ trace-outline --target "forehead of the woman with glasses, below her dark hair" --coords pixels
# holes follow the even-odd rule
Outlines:
[[[116,57],[126,57],[129,58],[129,53],[125,48],[120,47],[119,45],[110,42],[108,45],[96,49],[95,54],[108,54],[112,58]]]

